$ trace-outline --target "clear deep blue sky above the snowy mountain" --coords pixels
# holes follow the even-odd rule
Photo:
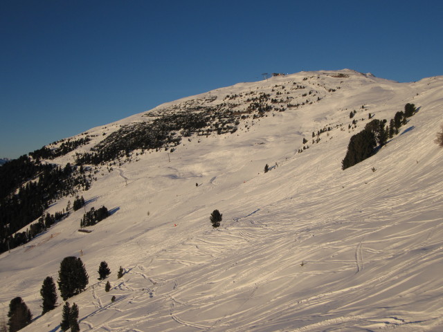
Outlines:
[[[265,72],[443,75],[442,3],[1,0],[0,157]]]

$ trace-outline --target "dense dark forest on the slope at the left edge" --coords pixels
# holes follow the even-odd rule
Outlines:
[[[44,210],[56,199],[89,189],[90,181],[82,167],[42,164],[27,156],[0,167],[0,252],[8,250],[8,246],[20,246],[46,230],[62,217],[62,212],[48,217],[42,216]],[[44,221],[34,224],[28,234],[17,233],[39,216]]]

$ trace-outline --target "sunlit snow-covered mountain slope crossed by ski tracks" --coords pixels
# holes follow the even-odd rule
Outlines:
[[[69,299],[80,308],[81,331],[442,331],[443,149],[433,140],[443,122],[443,77],[400,84],[349,70],[296,73],[147,113],[214,106],[228,95],[244,111],[254,91],[300,106],[244,118],[234,133],[193,134],[172,153],[134,151],[111,172],[100,166],[82,195],[88,210],[105,205],[114,214],[86,234],[78,210],[3,253],[3,315],[21,296],[36,317],[23,331],[60,331],[62,306],[40,317],[39,289],[82,250],[89,286]],[[368,113],[389,121],[408,102],[418,111],[399,135],[341,170]],[[88,145],[53,162],[72,163],[103,133],[145,115],[91,129]],[[313,144],[312,133],[328,127]],[[309,149],[298,153],[303,138]],[[223,214],[218,229],[209,221],[215,209]],[[103,260],[109,293],[107,280],[97,280]]]

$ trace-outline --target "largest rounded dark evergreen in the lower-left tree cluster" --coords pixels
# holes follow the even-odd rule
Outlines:
[[[82,293],[89,282],[89,276],[80,257],[65,257],[60,263],[58,275],[58,289],[65,301],[73,295]]]

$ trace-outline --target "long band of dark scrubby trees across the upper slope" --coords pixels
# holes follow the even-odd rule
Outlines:
[[[136,149],[142,151],[154,149],[173,149],[181,143],[183,137],[192,134],[208,136],[234,133],[244,113],[255,112],[254,118],[265,116],[273,106],[266,104],[269,95],[248,100],[251,104],[245,112],[233,111],[232,105],[220,104],[217,107],[187,107],[186,111],[177,111],[155,118],[152,122],[128,124],[110,133],[104,140],[91,149],[91,152],[75,155],[79,165],[99,165],[111,160],[125,158]],[[175,111],[175,110],[174,110]]]

